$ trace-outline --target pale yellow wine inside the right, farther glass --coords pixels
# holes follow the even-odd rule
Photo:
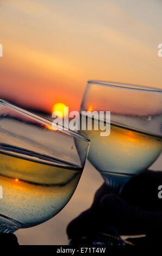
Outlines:
[[[103,176],[139,174],[151,166],[162,149],[161,137],[115,124],[111,124],[109,136],[102,137],[101,130],[94,130],[94,120],[92,130],[79,132],[91,139],[88,159]]]

